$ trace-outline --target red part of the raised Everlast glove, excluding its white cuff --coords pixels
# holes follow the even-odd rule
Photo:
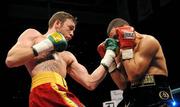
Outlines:
[[[117,38],[121,49],[134,48],[135,33],[131,26],[122,26],[116,28]]]

